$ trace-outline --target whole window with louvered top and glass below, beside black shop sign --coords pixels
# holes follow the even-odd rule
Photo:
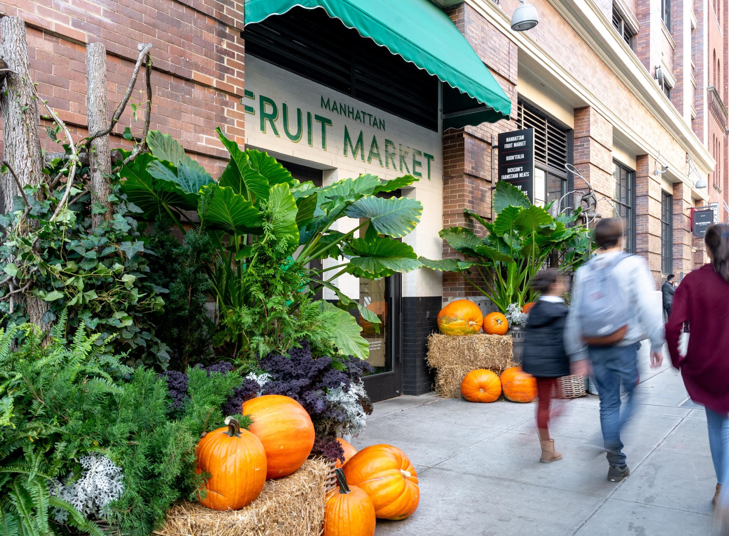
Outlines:
[[[560,201],[567,193],[567,170],[572,162],[572,131],[534,106],[519,100],[517,128],[534,128],[534,204]],[[561,209],[569,206],[564,198]]]

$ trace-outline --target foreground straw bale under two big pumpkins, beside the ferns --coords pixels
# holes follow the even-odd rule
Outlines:
[[[319,536],[324,524],[323,459],[308,459],[296,473],[268,480],[260,496],[241,510],[209,510],[180,502],[167,513],[163,536]]]

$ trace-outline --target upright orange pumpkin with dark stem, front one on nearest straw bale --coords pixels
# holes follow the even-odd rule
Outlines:
[[[266,453],[260,439],[225,419],[198,443],[196,473],[210,473],[200,504],[212,510],[238,510],[257,499],[266,481]]]

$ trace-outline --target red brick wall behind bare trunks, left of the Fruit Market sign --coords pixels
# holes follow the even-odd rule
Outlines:
[[[3,15],[26,20],[31,76],[76,139],[85,136],[85,44],[107,50],[109,115],[121,101],[138,52],[151,42],[152,124],[179,139],[188,152],[219,171],[227,152],[217,140],[218,125],[243,142],[243,2],[218,0],[0,1]],[[140,75],[137,90],[144,88]],[[135,91],[131,102],[146,98]],[[141,133],[130,110],[114,129],[112,147],[126,126]],[[46,147],[55,147],[50,141]],[[57,150],[57,149],[55,149]]]

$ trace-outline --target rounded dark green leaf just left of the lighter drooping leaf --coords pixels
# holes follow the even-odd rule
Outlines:
[[[214,184],[203,188],[198,215],[210,229],[238,234],[262,233],[263,217],[260,211],[230,187]]]

